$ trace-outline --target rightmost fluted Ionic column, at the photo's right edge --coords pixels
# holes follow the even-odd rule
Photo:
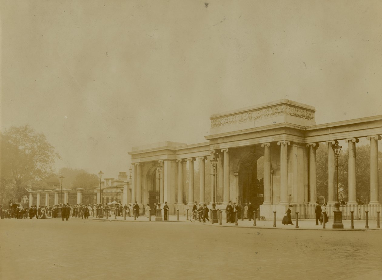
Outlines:
[[[370,140],[370,202],[379,204],[378,200],[378,140],[380,135],[367,136]]]

